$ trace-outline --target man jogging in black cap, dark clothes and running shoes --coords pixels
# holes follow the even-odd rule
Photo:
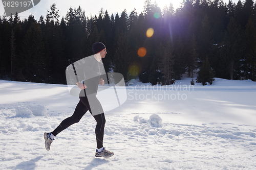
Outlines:
[[[102,106],[96,97],[98,84],[104,84],[104,80],[101,78],[101,76],[105,74],[105,71],[101,59],[105,58],[106,47],[101,42],[95,42],[92,46],[92,50],[94,52],[93,56],[89,56],[82,59],[81,62],[79,62],[79,64],[72,64],[73,69],[71,72],[75,74],[76,77],[73,78],[75,79],[73,81],[75,81],[77,86],[81,89],[79,93],[80,101],[77,104],[72,116],[64,119],[60,123],[60,125],[52,132],[44,133],[45,147],[47,151],[50,150],[51,143],[61,131],[67,129],[69,126],[75,123],[78,123],[82,116],[89,110],[97,122],[97,125],[95,127],[95,135],[97,142],[95,156],[108,158],[114,155],[113,152],[110,152],[103,147],[105,116]],[[79,72],[77,70],[79,70]],[[81,76],[81,72],[83,76]],[[84,80],[79,81],[79,78],[81,77],[83,77]]]

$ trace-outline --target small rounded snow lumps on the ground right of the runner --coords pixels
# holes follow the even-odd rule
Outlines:
[[[133,120],[135,122],[139,122],[140,124],[148,123],[153,127],[157,127],[157,128],[162,127],[162,118],[155,113],[150,116],[150,119],[145,119],[143,117],[140,117],[139,115],[136,115],[133,118]]]

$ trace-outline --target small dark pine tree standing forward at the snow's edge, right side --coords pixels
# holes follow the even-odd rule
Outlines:
[[[201,66],[200,70],[198,71],[197,76],[197,83],[202,83],[203,85],[207,85],[209,83],[212,84],[214,81],[214,71],[210,67],[210,63],[208,61],[208,57],[203,61],[203,65]]]

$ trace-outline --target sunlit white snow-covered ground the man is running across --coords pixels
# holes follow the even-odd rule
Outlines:
[[[67,86],[0,81],[0,169],[256,169],[256,82],[190,80],[132,81],[126,102],[105,113],[109,159],[94,156],[89,112],[46,151],[44,132],[78,103]]]

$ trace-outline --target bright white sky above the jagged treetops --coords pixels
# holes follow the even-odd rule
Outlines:
[[[2,0],[2,1],[14,1],[14,0]],[[18,0],[17,0],[18,1]],[[20,0],[19,0],[20,1]],[[232,0],[233,3],[238,2],[239,0]],[[20,19],[28,18],[30,14],[33,14],[35,16],[36,20],[39,20],[39,17],[42,15],[44,18],[46,18],[47,11],[50,11],[50,6],[55,3],[57,9],[59,10],[60,19],[62,16],[66,16],[67,12],[69,11],[69,8],[72,7],[77,8],[81,7],[82,10],[86,12],[86,16],[90,17],[90,14],[93,16],[99,15],[99,11],[101,8],[103,8],[103,11],[108,10],[109,15],[113,13],[114,16],[118,12],[119,16],[121,12],[126,9],[127,13],[130,14],[136,8],[138,14],[143,11],[145,0],[97,0],[97,1],[89,1],[89,0],[41,0],[38,5],[35,7],[19,13]],[[155,2],[155,0],[152,0],[151,2]],[[158,6],[163,9],[165,5],[169,6],[170,3],[173,3],[175,9],[179,8],[183,0],[156,0],[156,3]],[[224,3],[228,3],[228,0],[223,0]],[[243,1],[242,1],[243,2]],[[3,16],[4,14],[4,6],[2,3],[0,3],[0,16]],[[59,19],[59,20],[60,20]]]

